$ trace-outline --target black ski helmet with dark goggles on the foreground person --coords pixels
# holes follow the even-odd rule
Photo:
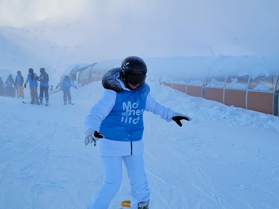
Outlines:
[[[122,61],[120,77],[122,81],[131,85],[143,85],[147,73],[147,67],[143,59],[136,56],[126,57]]]

